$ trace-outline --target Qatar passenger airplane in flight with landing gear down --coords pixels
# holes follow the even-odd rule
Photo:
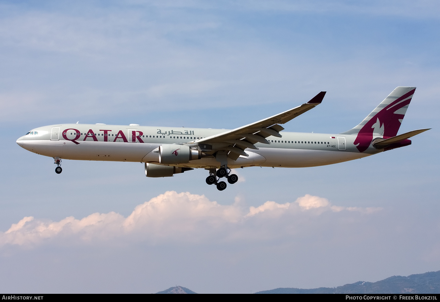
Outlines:
[[[62,159],[141,162],[145,176],[171,177],[204,168],[207,184],[222,191],[238,181],[231,169],[312,167],[346,162],[411,144],[429,129],[397,135],[415,87],[397,87],[356,127],[337,134],[282,132],[293,118],[319,105],[319,92],[301,106],[235,129],[62,124],[32,129],[17,140],[28,151]]]

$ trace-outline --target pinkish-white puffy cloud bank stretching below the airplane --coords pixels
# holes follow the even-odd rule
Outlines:
[[[316,209],[320,209],[316,212]],[[374,213],[380,208],[344,208],[331,206],[318,196],[305,195],[293,203],[279,204],[268,201],[261,206],[242,206],[237,197],[232,205],[220,205],[205,195],[189,192],[165,192],[148,202],[136,206],[132,214],[123,217],[115,212],[94,213],[81,220],[66,217],[61,221],[44,221],[24,217],[0,232],[0,246],[33,246],[51,239],[64,244],[95,243],[113,239],[146,241],[151,244],[170,241],[202,242],[206,240],[264,240],[284,236],[294,228],[293,217],[316,217],[325,211],[330,213]],[[314,212],[315,211],[315,212]],[[348,213],[346,211],[346,213]],[[334,214],[337,215],[337,214]],[[284,217],[285,219],[280,219]],[[268,225],[271,225],[268,227]],[[285,230],[285,231],[282,231]]]

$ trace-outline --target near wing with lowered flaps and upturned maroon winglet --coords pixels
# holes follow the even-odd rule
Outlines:
[[[280,114],[273,115],[269,118],[262,119],[258,122],[242,126],[233,130],[228,130],[213,136],[208,136],[199,140],[194,140],[192,144],[209,144],[213,151],[229,151],[228,157],[236,160],[240,155],[248,156],[244,151],[246,148],[258,150],[254,146],[256,143],[270,144],[266,137],[277,136],[282,137],[279,132],[284,128],[278,124],[284,124],[298,115],[319,105],[326,92],[319,92],[314,98],[301,106],[284,111]],[[202,148],[203,149],[203,148]],[[208,150],[206,150],[208,151]],[[210,153],[211,153],[210,152]]]

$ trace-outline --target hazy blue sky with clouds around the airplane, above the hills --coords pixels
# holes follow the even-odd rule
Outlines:
[[[336,287],[440,270],[437,1],[0,1],[0,291]],[[340,133],[417,87],[411,146],[312,168],[63,160],[15,140],[58,123]]]

